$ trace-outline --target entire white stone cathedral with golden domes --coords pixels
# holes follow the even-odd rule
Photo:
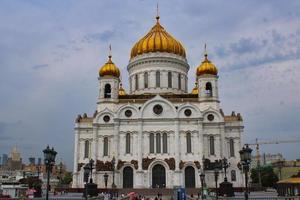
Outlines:
[[[228,181],[242,187],[237,164],[243,119],[223,113],[218,69],[206,49],[199,63],[190,91],[186,51],[159,16],[131,49],[128,91],[109,53],[99,69],[96,111],[75,120],[72,187],[84,187],[83,168],[91,159],[98,188],[105,179],[108,188],[199,188],[202,172],[206,185],[214,187],[214,166],[223,158],[230,163]],[[224,177],[220,169],[218,182]]]

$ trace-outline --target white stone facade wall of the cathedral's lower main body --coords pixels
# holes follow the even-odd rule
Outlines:
[[[74,151],[74,181],[73,187],[83,187],[83,170],[77,172],[78,163],[87,163],[88,158],[84,158],[84,141],[90,140],[91,158],[95,160],[110,161],[113,156],[116,160],[128,161],[126,165],[131,166],[134,171],[134,187],[151,187],[152,167],[155,163],[162,164],[166,169],[166,187],[172,188],[175,185],[184,185],[184,168],[193,166],[195,168],[196,187],[200,187],[199,169],[195,167],[194,161],[202,162],[205,156],[211,161],[227,157],[231,163],[228,169],[228,180],[231,181],[230,171],[236,170],[237,181],[233,182],[235,187],[243,185],[243,177],[237,169],[237,163],[240,160],[238,151],[241,148],[241,135],[243,131],[242,122],[224,123],[224,119],[219,110],[205,103],[193,104],[188,102],[171,103],[160,96],[148,100],[144,104],[110,104],[102,103],[98,106],[98,114],[93,123],[79,123],[75,128],[75,151]],[[163,113],[156,115],[153,113],[153,106],[160,104],[163,106]],[[215,102],[215,104],[218,104]],[[138,107],[141,107],[138,109]],[[178,107],[176,109],[175,107]],[[191,109],[192,115],[184,115],[185,109]],[[130,118],[124,115],[125,110],[131,109],[133,114]],[[214,121],[207,120],[207,115],[213,114]],[[109,115],[109,122],[103,121],[103,116]],[[149,133],[168,134],[168,153],[149,153]],[[192,153],[186,153],[186,133],[190,132],[192,136]],[[130,154],[125,153],[125,136],[131,135]],[[209,155],[209,136],[215,137],[215,155]],[[103,138],[109,138],[109,155],[103,156]],[[229,155],[229,139],[234,139],[235,156]],[[162,149],[161,149],[162,150]],[[142,158],[155,157],[148,170],[141,168]],[[175,158],[176,169],[169,170],[169,166],[164,161],[165,158]],[[131,160],[138,160],[139,169],[135,169]],[[180,161],[184,161],[185,167],[179,169]],[[109,174],[109,183],[111,185],[111,172]],[[212,172],[206,172],[206,182],[208,186],[214,187],[214,177]],[[94,174],[98,187],[104,187],[104,172],[98,171]],[[122,187],[123,181],[122,168],[116,171],[115,182],[118,187]],[[221,182],[224,175],[220,175]]]

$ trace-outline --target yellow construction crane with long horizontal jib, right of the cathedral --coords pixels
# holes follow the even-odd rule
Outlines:
[[[255,143],[249,143],[249,146],[255,146],[256,149],[256,167],[258,169],[258,183],[261,186],[261,174],[260,174],[260,153],[259,153],[259,146],[265,144],[284,144],[284,143],[300,143],[300,139],[295,140],[273,140],[273,141],[258,141],[255,139]],[[281,176],[281,175],[280,175]],[[281,177],[280,177],[281,179]]]

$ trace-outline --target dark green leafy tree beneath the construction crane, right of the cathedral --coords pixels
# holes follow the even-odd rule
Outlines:
[[[251,170],[251,179],[253,183],[258,183],[258,169]],[[278,176],[274,173],[272,166],[260,167],[261,184],[263,187],[274,187],[278,181]]]

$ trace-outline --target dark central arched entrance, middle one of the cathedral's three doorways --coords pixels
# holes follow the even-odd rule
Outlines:
[[[155,165],[152,169],[152,187],[166,187],[166,170],[160,164]]]

